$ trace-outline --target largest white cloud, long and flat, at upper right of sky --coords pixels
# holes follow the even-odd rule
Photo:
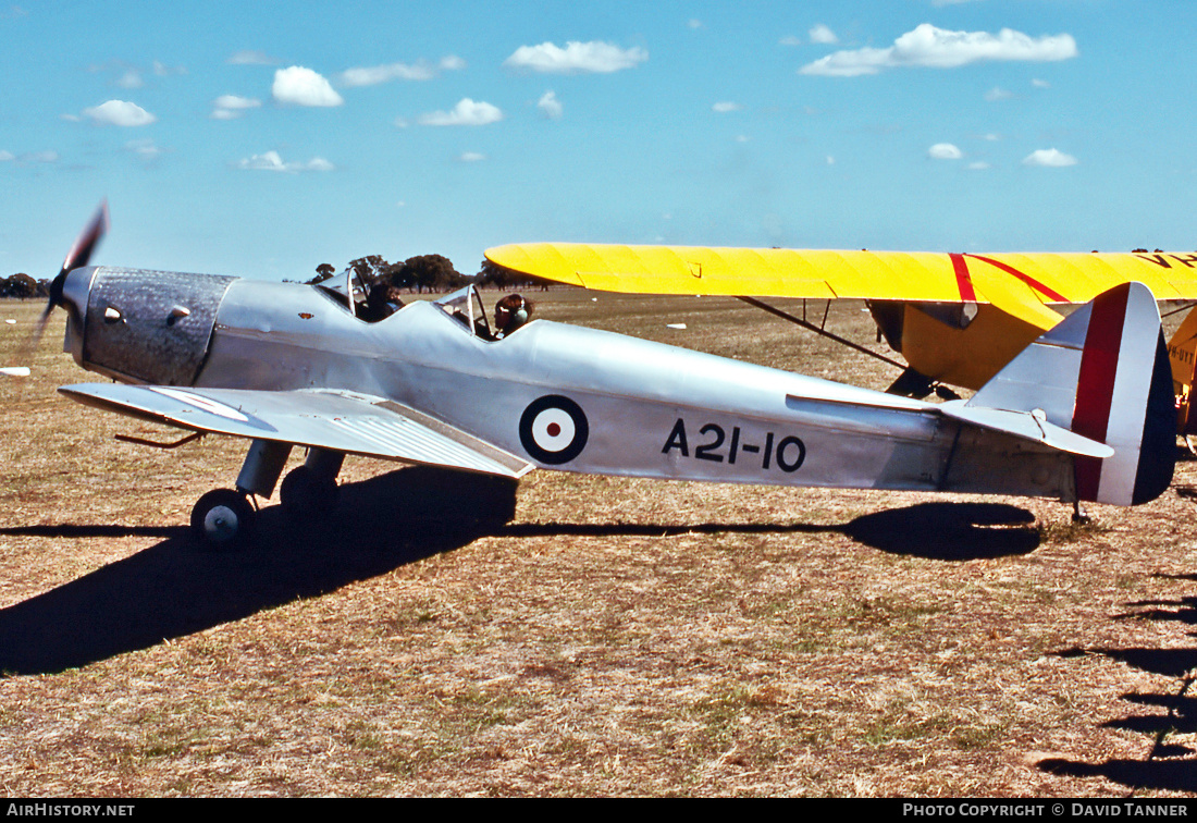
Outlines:
[[[895,40],[889,48],[836,52],[807,63],[798,72],[858,77],[909,66],[956,68],[982,60],[1068,60],[1076,54],[1076,41],[1071,35],[1037,38],[1011,29],[991,35],[988,31],[947,31],[923,23]]]

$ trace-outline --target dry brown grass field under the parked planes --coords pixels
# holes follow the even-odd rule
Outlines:
[[[554,320],[894,376],[735,301],[531,296]],[[0,365],[40,308],[0,303]],[[249,551],[213,555],[184,526],[243,443],[115,441],[177,435],[57,395],[95,377],[61,322],[31,377],[0,377],[6,795],[1197,792],[1197,462],[1075,527],[1050,501],[512,489],[351,459],[329,522],[271,501]],[[859,304],[828,323],[874,339]],[[510,522],[466,516],[496,494]]]

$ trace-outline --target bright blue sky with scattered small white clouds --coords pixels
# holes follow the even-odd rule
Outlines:
[[[0,0],[0,276],[1191,249],[1187,0]]]

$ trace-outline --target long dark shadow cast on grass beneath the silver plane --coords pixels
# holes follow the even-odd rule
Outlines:
[[[686,533],[841,533],[891,553],[943,561],[1017,555],[1039,543],[1032,515],[996,503],[922,503],[844,525],[508,524],[516,484],[412,467],[341,488],[330,516],[291,521],[262,509],[241,552],[202,550],[184,527],[29,526],[0,534],[164,539],[130,557],[0,610],[0,672],[57,672],[148,648],[298,598],[335,591],[480,537],[662,537]],[[267,537],[268,535],[268,537]]]

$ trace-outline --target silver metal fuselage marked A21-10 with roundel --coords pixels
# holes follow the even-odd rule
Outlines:
[[[84,368],[127,382],[387,398],[543,468],[1071,492],[1069,455],[932,404],[609,332],[534,320],[493,339],[431,302],[371,323],[315,286],[102,267],[73,272],[65,296],[67,349]]]

